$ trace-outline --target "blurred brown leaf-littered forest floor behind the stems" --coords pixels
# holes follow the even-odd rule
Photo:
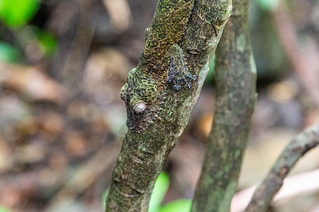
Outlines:
[[[119,91],[138,63],[156,4],[0,0],[1,207],[102,210],[127,131]],[[286,143],[319,122],[319,1],[252,0],[250,21],[259,97],[239,190],[261,182]],[[212,61],[164,165],[170,178],[164,202],[194,193],[213,121],[213,68]],[[318,169],[316,148],[291,175]],[[305,182],[298,176],[297,191]],[[317,187],[291,192],[273,208],[318,212],[318,203]]]

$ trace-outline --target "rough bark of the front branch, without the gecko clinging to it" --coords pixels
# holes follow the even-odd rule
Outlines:
[[[230,12],[230,0],[195,1],[179,46],[184,51],[189,70],[197,79],[189,90],[177,92],[168,88],[154,123],[140,133],[128,131],[113,169],[106,211],[147,211],[155,180],[188,122]],[[170,27],[174,28],[174,25]],[[167,48],[162,44],[157,46],[162,47]],[[140,63],[139,66],[147,64]]]

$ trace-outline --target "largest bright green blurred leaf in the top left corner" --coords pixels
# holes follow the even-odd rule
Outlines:
[[[33,18],[40,0],[0,0],[0,19],[9,28],[19,28]]]

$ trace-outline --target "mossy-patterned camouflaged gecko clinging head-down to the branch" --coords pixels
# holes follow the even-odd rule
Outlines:
[[[191,88],[195,75],[189,73],[177,42],[184,35],[194,0],[159,0],[138,66],[128,73],[121,89],[128,128],[140,132],[152,124],[165,100],[169,83],[174,90]]]

